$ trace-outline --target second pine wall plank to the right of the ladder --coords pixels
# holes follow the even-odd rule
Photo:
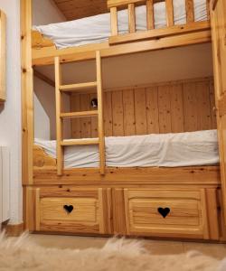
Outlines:
[[[113,135],[124,135],[122,91],[112,92]]]

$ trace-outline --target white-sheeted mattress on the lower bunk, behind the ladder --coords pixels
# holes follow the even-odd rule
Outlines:
[[[216,130],[106,137],[107,166],[192,166],[219,164]],[[46,154],[56,158],[56,141],[35,139]],[[98,167],[98,145],[66,146],[65,168]]]

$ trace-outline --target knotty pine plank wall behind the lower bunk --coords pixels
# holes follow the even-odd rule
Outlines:
[[[71,111],[92,109],[93,93],[71,96]],[[190,79],[104,93],[105,133],[145,135],[216,128],[213,80]],[[97,118],[71,120],[72,138],[97,137]]]

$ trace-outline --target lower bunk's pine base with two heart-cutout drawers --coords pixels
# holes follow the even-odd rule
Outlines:
[[[65,169],[33,148],[26,229],[79,235],[225,240],[217,165]]]

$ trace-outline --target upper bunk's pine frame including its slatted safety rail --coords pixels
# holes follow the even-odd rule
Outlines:
[[[154,4],[165,2],[166,27],[155,29]],[[172,0],[108,0],[111,16],[111,36],[108,42],[71,47],[57,50],[54,44],[42,37],[41,33],[32,32],[33,65],[53,64],[54,57],[60,57],[62,62],[87,61],[95,59],[95,52],[100,51],[100,57],[106,58],[140,51],[153,51],[184,45],[211,42],[211,25],[209,21],[209,0],[206,1],[208,20],[194,22],[193,0],[185,0],[187,23],[174,25],[174,7]],[[146,5],[147,30],[136,31],[135,5]],[[118,9],[128,10],[128,33],[118,33]]]

